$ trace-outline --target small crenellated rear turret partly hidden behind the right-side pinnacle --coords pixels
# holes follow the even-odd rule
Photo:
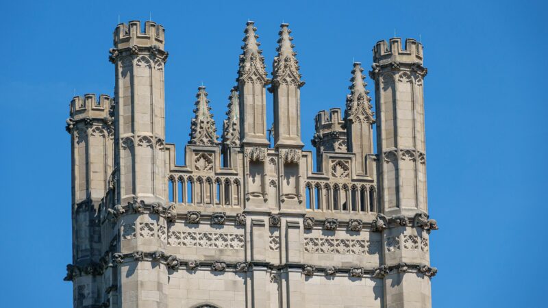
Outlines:
[[[322,110],[314,118],[316,133],[310,140],[316,148],[316,166],[319,172],[323,166],[324,152],[347,152],[347,132],[340,108],[332,108],[329,112]]]

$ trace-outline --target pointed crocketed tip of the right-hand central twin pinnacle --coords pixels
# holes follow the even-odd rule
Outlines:
[[[282,23],[278,32],[278,47],[276,48],[278,55],[274,57],[272,70],[273,83],[276,86],[282,82],[282,79],[287,78],[289,79],[287,81],[292,80],[300,88],[304,85],[304,81],[301,81],[299,60],[295,57],[297,53],[293,51],[295,45],[291,43],[293,38],[289,36],[291,30],[288,27],[288,23]]]

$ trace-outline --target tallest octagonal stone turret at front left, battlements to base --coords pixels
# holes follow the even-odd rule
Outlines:
[[[145,205],[166,206],[166,163],[164,157],[164,28],[151,21],[141,31],[139,21],[120,24],[114,31],[116,107],[114,116],[114,168],[116,207],[121,254],[164,251],[166,219],[159,211],[142,214]],[[126,209],[123,206],[129,205]],[[145,236],[136,237],[136,233]],[[155,236],[158,234],[158,236]],[[117,292],[124,306],[166,307],[167,268],[163,264],[121,263]],[[149,275],[158,277],[149,283]]]

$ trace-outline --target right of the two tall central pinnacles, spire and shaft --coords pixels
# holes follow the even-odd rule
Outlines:
[[[273,62],[273,81],[269,89],[274,93],[274,146],[302,147],[301,142],[301,81],[299,61],[289,36],[288,23],[279,30],[277,56]]]

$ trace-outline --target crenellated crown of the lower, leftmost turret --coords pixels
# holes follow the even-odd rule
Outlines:
[[[84,97],[73,97],[71,101],[71,118],[105,118],[108,117],[113,99],[106,94],[85,94]]]

